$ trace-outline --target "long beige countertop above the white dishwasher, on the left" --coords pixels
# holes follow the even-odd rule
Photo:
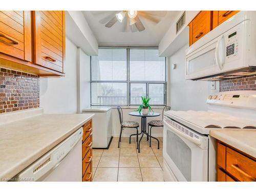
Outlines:
[[[34,116],[0,124],[0,181],[14,177],[93,117],[93,114],[38,114],[38,110],[35,111]],[[11,119],[9,115],[0,115],[0,120],[3,117]]]

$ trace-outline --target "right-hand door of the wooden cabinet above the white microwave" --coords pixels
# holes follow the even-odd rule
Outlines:
[[[225,20],[238,12],[239,11],[212,11],[212,29],[221,25]]]

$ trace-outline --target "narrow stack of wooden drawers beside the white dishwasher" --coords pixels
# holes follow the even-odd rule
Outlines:
[[[83,125],[82,181],[92,181],[92,120]]]

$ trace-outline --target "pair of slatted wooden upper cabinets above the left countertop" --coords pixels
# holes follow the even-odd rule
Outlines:
[[[0,66],[63,76],[65,11],[0,11]]]

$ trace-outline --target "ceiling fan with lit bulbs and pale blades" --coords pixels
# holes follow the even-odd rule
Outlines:
[[[155,24],[160,22],[159,17],[164,17],[166,11],[112,11],[108,16],[100,19],[100,23],[105,27],[111,28],[117,22],[124,23],[124,32],[131,30],[132,32],[145,30],[140,17],[143,17]]]

